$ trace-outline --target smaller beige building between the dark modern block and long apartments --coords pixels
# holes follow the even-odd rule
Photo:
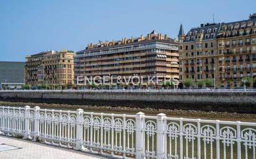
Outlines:
[[[25,84],[54,88],[73,87],[75,53],[66,49],[44,51],[25,58]]]

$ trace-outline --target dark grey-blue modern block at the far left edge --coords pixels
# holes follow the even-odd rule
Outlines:
[[[25,62],[0,61],[0,88],[20,88],[24,83]]]

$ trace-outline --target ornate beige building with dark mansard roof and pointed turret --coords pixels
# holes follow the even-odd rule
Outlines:
[[[180,42],[180,80],[210,79],[220,87],[240,87],[243,77],[256,76],[256,14],[248,20],[221,24],[201,24]]]

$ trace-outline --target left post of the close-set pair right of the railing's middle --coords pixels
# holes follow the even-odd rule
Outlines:
[[[142,159],[144,153],[144,113],[136,114],[136,159]]]

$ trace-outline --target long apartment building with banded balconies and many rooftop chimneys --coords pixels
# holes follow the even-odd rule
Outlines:
[[[133,75],[178,79],[178,56],[178,43],[155,30],[147,37],[99,41],[76,53],[75,83],[78,76],[111,76],[114,83],[117,76],[124,79]]]

